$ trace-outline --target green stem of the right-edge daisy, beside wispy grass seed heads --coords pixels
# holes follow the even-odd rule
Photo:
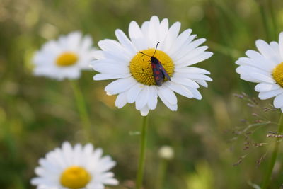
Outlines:
[[[280,120],[278,122],[278,132],[282,133],[282,131],[283,131],[283,113],[281,114]],[[265,172],[265,178],[262,182],[262,189],[266,189],[267,186],[270,183],[270,177],[272,175],[272,171],[273,171],[273,168],[275,166],[275,161],[277,159],[279,144],[280,144],[280,138],[277,138],[276,141],[275,141],[274,149],[272,151],[270,164],[267,167],[267,171]]]

